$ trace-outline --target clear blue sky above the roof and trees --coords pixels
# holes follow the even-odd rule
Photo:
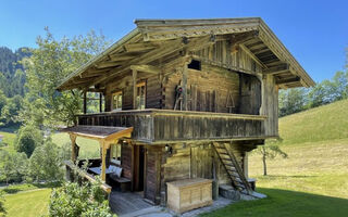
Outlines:
[[[260,16],[315,81],[345,65],[348,1],[265,0],[2,0],[0,46],[35,47],[49,26],[60,38],[90,29],[112,41],[135,28],[135,18],[213,18]]]

